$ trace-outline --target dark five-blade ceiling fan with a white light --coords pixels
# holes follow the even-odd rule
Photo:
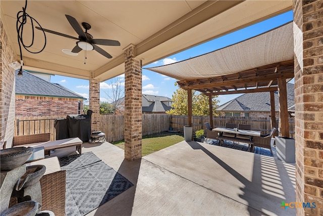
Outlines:
[[[36,29],[43,30],[45,32],[52,33],[52,34],[57,34],[57,35],[60,35],[63,37],[68,37],[68,38],[78,40],[76,42],[76,46],[72,50],[72,53],[79,53],[81,50],[85,50],[85,51],[95,50],[96,52],[105,56],[106,58],[109,58],[109,59],[112,58],[112,56],[109,53],[105,52],[103,49],[101,49],[100,47],[98,47],[96,45],[120,46],[120,42],[118,40],[93,39],[93,36],[91,34],[87,33],[87,30],[89,30],[91,28],[90,24],[88,24],[86,22],[82,22],[82,26],[85,29],[85,32],[84,32],[82,27],[80,26],[80,24],[77,22],[77,20],[74,17],[72,17],[70,15],[65,15],[65,16],[66,16],[67,20],[69,21],[69,23],[71,24],[71,26],[73,27],[73,29],[79,35],[78,38],[74,37],[74,36],[67,35],[67,34],[63,34],[63,33],[57,32],[57,31],[44,29],[44,28],[41,28],[38,26],[36,26]]]

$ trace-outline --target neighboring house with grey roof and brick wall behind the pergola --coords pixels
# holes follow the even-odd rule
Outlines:
[[[247,93],[219,106],[217,111],[221,113],[220,116],[269,117],[270,101],[269,92]],[[294,112],[294,105],[294,84],[287,83],[287,107],[290,114]],[[278,92],[275,92],[275,110],[276,117],[279,117]]]

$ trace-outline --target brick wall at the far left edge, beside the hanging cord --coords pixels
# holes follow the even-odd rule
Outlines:
[[[15,70],[9,66],[14,61],[14,52],[0,20],[0,141],[7,141],[7,147],[11,147],[15,132]]]

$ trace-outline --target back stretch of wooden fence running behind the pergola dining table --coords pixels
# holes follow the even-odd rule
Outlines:
[[[172,115],[171,126],[174,131],[183,132],[183,127],[187,126],[187,116],[185,115]],[[289,118],[289,133],[290,137],[294,138],[295,124],[294,118]],[[193,132],[199,129],[206,130],[205,122],[210,122],[208,116],[192,116],[192,127]],[[270,117],[216,117],[213,116],[213,127],[223,127],[228,123],[250,124],[251,129],[254,131],[261,131],[261,134],[268,134],[272,130],[271,118]],[[279,119],[276,119],[276,125],[279,125]],[[206,134],[206,133],[205,133]]]

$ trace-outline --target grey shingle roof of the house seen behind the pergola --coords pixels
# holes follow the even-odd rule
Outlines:
[[[270,93],[247,93],[243,94],[221,106],[219,111],[270,111]],[[287,83],[287,107],[294,110],[295,104],[294,84]],[[290,108],[291,107],[291,108]],[[278,92],[275,92],[275,110],[279,110]]]

